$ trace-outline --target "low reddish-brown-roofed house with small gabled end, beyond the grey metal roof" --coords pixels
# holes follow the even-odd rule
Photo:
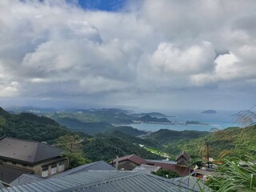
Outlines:
[[[112,162],[115,166],[116,159]],[[175,161],[165,161],[165,160],[151,160],[138,157],[136,154],[130,154],[122,158],[118,158],[118,170],[134,170],[135,167],[144,165],[149,166],[159,166],[163,170],[172,170],[176,172],[179,176],[186,176],[190,174],[190,155],[185,151],[178,154]]]

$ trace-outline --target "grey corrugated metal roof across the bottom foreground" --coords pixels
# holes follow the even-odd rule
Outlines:
[[[39,182],[0,189],[0,191],[180,192],[198,190],[187,189],[186,186],[178,185],[177,182],[172,183],[170,179],[160,178],[145,172],[94,170],[70,174],[61,178],[48,178]]]

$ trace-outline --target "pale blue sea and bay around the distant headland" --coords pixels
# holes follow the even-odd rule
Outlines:
[[[157,131],[161,129],[168,130],[199,130],[199,131],[212,131],[223,130],[228,127],[241,126],[237,122],[236,114],[239,111],[235,110],[218,110],[217,114],[203,114],[202,110],[175,110],[166,112],[171,122],[186,122],[198,121],[207,125],[171,125],[171,124],[130,124],[130,126],[138,130]]]

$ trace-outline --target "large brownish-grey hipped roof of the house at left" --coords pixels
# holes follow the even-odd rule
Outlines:
[[[62,150],[41,142],[27,141],[18,138],[0,140],[0,158],[34,164],[61,155]]]

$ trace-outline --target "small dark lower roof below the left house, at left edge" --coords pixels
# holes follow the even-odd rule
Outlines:
[[[22,174],[32,174],[33,170],[14,168],[13,166],[0,165],[0,179],[2,182],[10,183]]]

